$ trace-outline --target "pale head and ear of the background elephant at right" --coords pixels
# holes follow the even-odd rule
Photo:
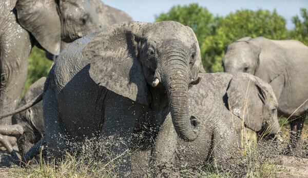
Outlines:
[[[228,45],[222,59],[224,72],[246,72],[272,82],[285,70],[285,52],[264,37],[243,37]]]

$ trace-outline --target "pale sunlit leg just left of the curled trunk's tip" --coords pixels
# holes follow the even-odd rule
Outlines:
[[[177,141],[178,135],[169,112],[160,128],[151,152],[150,167],[155,172],[155,176],[170,176],[173,167],[172,163],[175,162]]]

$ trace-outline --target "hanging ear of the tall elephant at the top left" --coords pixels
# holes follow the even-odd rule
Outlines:
[[[62,1],[62,0],[59,0]],[[54,0],[18,0],[18,22],[48,52],[59,55],[61,21]]]

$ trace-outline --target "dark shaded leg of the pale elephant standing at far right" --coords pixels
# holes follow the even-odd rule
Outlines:
[[[291,137],[290,137],[290,146],[292,148],[295,148],[298,144],[298,141],[301,136],[301,132],[304,126],[304,121],[306,118],[306,114],[303,116],[300,116],[297,118],[291,118],[290,124],[291,124]]]

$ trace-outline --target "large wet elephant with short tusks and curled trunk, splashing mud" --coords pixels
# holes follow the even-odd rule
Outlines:
[[[113,149],[120,154],[131,147],[136,123],[162,123],[169,111],[178,135],[193,141],[200,125],[189,113],[187,91],[200,81],[201,66],[195,33],[173,21],[123,22],[77,39],[35,98],[43,98],[45,127],[38,144],[46,141],[48,156],[59,158],[86,139],[113,137],[124,143]]]

